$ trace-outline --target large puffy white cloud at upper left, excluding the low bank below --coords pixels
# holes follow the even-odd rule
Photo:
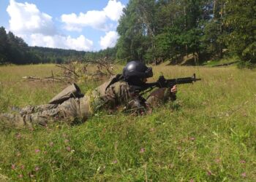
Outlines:
[[[52,17],[40,12],[34,4],[27,2],[22,4],[10,0],[7,12],[10,15],[10,31],[17,34],[43,33],[53,35],[56,33]]]

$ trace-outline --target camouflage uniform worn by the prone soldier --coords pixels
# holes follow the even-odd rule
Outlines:
[[[83,122],[99,108],[115,108],[124,104],[127,109],[145,110],[148,104],[159,104],[159,101],[166,101],[168,98],[175,100],[175,95],[165,88],[155,90],[145,100],[127,82],[119,81],[108,87],[111,80],[87,92],[82,98],[69,98],[61,104],[29,106],[22,108],[20,114],[0,114],[0,122],[14,127],[32,127],[34,124],[45,126],[53,121],[71,123],[75,119]]]

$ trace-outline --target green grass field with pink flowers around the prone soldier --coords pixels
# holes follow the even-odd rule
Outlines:
[[[256,71],[153,70],[154,80],[195,73],[202,81],[178,85],[175,103],[146,116],[99,112],[75,126],[1,129],[0,181],[256,181]],[[47,103],[65,85],[21,77],[51,71],[59,69],[0,67],[0,112]]]

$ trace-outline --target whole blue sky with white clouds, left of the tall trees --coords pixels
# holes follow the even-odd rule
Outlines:
[[[31,46],[97,51],[113,47],[129,0],[0,0],[0,26]]]

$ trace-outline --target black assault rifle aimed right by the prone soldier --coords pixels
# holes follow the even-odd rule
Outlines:
[[[165,79],[165,76],[159,76],[159,79],[157,82],[153,83],[146,83],[143,85],[143,87],[140,87],[138,91],[148,90],[149,88],[153,89],[154,87],[173,87],[176,84],[190,84],[193,82],[197,82],[201,79],[197,79],[195,77],[195,74],[191,77],[184,77],[184,78],[178,78],[178,79]]]

